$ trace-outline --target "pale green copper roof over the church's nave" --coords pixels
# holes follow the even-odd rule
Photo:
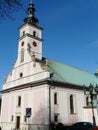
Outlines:
[[[88,71],[52,60],[48,61],[48,65],[52,80],[79,86],[89,86],[90,83],[94,86],[98,85],[98,78]]]

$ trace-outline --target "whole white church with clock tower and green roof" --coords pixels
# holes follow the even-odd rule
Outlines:
[[[92,122],[83,85],[98,84],[87,71],[42,57],[42,28],[31,2],[19,28],[18,57],[2,90],[2,130],[48,130],[50,123]],[[98,124],[97,111],[95,116]]]

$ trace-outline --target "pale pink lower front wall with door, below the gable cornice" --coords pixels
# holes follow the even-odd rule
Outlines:
[[[2,129],[14,129],[16,127],[17,116],[20,116],[20,128],[26,128],[28,124],[47,125],[49,122],[47,117],[49,106],[47,100],[47,90],[47,85],[42,85],[3,94],[1,111]],[[21,96],[20,107],[17,106],[18,96]],[[25,122],[24,116],[26,116],[26,108],[32,108],[32,115]],[[11,121],[12,116],[13,121]]]

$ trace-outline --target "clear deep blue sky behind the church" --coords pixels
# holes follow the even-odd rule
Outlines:
[[[23,1],[25,9],[30,0]],[[95,72],[98,66],[98,0],[33,0],[43,30],[43,56]],[[0,20],[0,90],[17,58],[18,27],[27,14]]]

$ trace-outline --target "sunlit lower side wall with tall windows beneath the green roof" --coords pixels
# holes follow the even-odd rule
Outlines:
[[[58,94],[58,104],[54,105],[54,93]],[[70,113],[70,95],[75,97],[75,113]],[[80,121],[89,121],[92,120],[92,109],[84,108],[84,92],[83,90],[68,89],[62,87],[52,87],[51,89],[51,121],[54,121],[54,113],[58,113],[58,122],[61,122],[65,125],[70,125],[75,122]],[[56,107],[56,111],[55,111]],[[95,109],[95,118],[96,123],[98,124],[97,110]]]

